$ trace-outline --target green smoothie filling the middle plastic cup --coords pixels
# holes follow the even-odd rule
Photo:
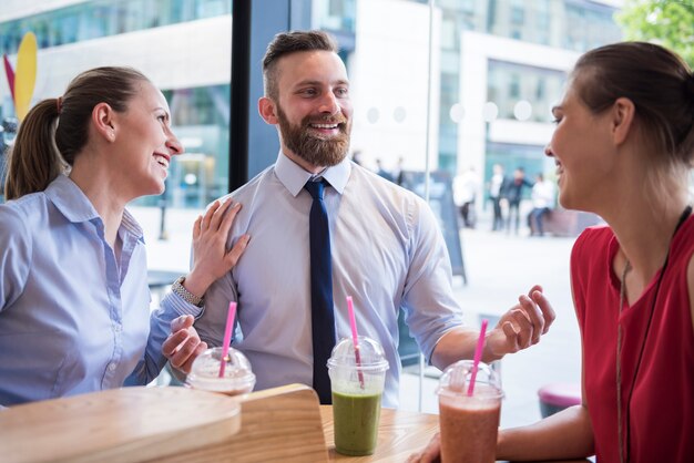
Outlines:
[[[333,391],[335,450],[344,455],[370,455],[376,450],[380,393],[345,394]]]

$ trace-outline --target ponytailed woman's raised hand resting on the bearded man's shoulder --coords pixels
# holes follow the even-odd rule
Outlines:
[[[185,278],[185,287],[202,296],[210,285],[229,271],[248,245],[249,235],[242,235],[231,249],[226,248],[232,224],[241,210],[241,203],[232,198],[215,200],[193,225],[193,270]]]

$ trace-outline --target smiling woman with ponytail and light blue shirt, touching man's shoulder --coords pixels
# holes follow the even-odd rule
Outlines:
[[[0,205],[0,405],[145,384],[205,349],[192,328],[238,204],[193,226],[195,261],[150,315],[143,233],[125,205],[164,191],[183,153],[163,94],[140,72],[99,68],[22,122]]]

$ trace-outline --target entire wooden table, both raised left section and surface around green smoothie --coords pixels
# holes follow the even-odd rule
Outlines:
[[[239,412],[241,409],[241,412]],[[228,398],[185,388],[124,388],[0,412],[3,463],[404,462],[438,415],[381,409],[376,452],[335,452],[333,408],[302,384]]]

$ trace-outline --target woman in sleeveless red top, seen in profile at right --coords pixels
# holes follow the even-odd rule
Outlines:
[[[497,457],[694,462],[694,75],[662,47],[602,47],[552,112],[560,203],[609,225],[571,256],[583,403],[501,431]]]

